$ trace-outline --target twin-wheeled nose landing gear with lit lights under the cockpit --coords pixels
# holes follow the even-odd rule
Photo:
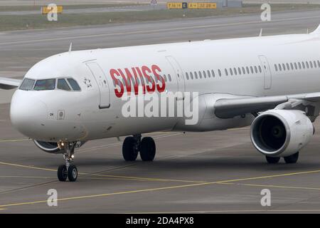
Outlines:
[[[60,150],[63,150],[63,159],[65,165],[58,167],[58,180],[65,181],[67,178],[70,182],[74,182],[78,178],[78,169],[73,164],[76,142],[58,142]]]

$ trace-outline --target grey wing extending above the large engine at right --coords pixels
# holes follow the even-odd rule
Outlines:
[[[215,102],[215,115],[218,118],[234,118],[237,115],[258,113],[273,108],[290,109],[304,104],[320,101],[320,93],[304,93],[297,95],[279,95],[250,98],[222,98]]]

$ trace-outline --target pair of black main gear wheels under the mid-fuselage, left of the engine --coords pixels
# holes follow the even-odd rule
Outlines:
[[[138,154],[143,161],[152,161],[156,155],[156,143],[151,137],[141,135],[129,136],[124,139],[122,155],[126,161],[137,160]]]

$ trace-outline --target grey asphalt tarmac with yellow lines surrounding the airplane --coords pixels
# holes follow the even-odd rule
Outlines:
[[[302,33],[320,24],[320,11],[119,24],[0,34],[0,75],[21,77],[42,58],[68,51],[148,43]],[[214,60],[213,60],[214,61]],[[152,133],[154,162],[124,162],[122,142],[87,142],[75,154],[77,182],[58,182],[61,155],[38,150],[11,127],[0,105],[0,213],[320,212],[320,122],[299,162],[268,165],[251,145],[249,129],[212,133]],[[123,138],[122,138],[123,140]],[[50,189],[58,207],[48,207]],[[260,204],[271,191],[271,207]]]

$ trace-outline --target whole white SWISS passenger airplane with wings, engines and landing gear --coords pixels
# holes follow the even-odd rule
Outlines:
[[[58,180],[74,182],[75,149],[89,140],[127,136],[126,161],[152,161],[156,144],[142,134],[250,127],[268,163],[296,163],[314,135],[320,108],[320,26],[305,34],[188,41],[72,51],[36,63],[16,89],[11,123],[41,150],[62,154]],[[137,93],[137,89],[141,93]],[[186,116],[124,116],[122,99],[166,93],[174,108],[196,93],[198,121]],[[141,104],[141,102],[139,103]],[[139,105],[138,104],[138,105]],[[143,101],[144,105],[144,101]],[[156,108],[156,107],[154,107]],[[168,108],[168,107],[167,107]],[[214,135],[213,135],[214,138]]]

